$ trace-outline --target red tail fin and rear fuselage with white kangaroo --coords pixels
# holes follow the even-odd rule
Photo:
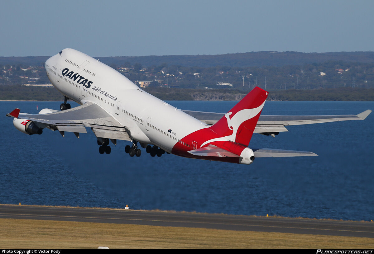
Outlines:
[[[242,153],[245,149],[249,149],[247,147],[267,95],[268,93],[265,90],[255,87],[213,126],[197,130],[181,139],[182,143],[192,143],[191,148],[194,149],[177,143],[173,148],[173,154],[193,157],[193,153],[188,154],[187,152],[210,145],[229,151],[236,157],[244,156]],[[253,152],[251,155],[253,155]],[[238,158],[229,158],[222,153],[218,157],[205,156],[204,158],[220,161],[232,160],[230,162],[236,160],[237,163],[241,163]]]

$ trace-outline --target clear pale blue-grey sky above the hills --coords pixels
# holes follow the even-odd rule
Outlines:
[[[374,1],[0,1],[0,56],[374,50]]]

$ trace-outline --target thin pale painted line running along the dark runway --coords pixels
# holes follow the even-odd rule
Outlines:
[[[7,214],[0,213],[6,216],[33,216],[33,217],[56,217],[56,218],[82,218],[82,219],[110,219],[110,220],[128,220],[128,221],[149,221],[149,222],[174,222],[174,223],[196,223],[196,224],[220,224],[220,225],[235,225],[235,226],[246,226],[246,227],[269,227],[269,228],[289,228],[289,229],[306,229],[306,230],[326,230],[326,231],[337,231],[337,232],[359,232],[359,233],[374,233],[371,231],[358,231],[358,230],[345,230],[345,229],[322,229],[322,228],[310,228],[310,227],[286,227],[286,226],[271,226],[271,225],[260,225],[260,224],[237,224],[237,223],[209,223],[209,222],[191,222],[191,221],[178,221],[178,220],[149,220],[149,219],[128,219],[128,218],[110,218],[110,217],[86,217],[86,216],[62,216],[62,215],[40,215],[40,214]],[[254,230],[248,230],[254,231]]]

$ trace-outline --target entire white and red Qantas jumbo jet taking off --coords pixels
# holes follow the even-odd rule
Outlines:
[[[39,114],[19,113],[14,126],[26,134],[44,128],[73,132],[77,137],[91,128],[100,154],[109,154],[110,141],[128,140],[131,157],[146,148],[151,156],[171,153],[182,157],[251,164],[256,157],[314,156],[312,152],[249,148],[253,133],[275,136],[285,126],[363,120],[358,115],[276,116],[261,115],[268,92],[255,87],[226,114],[177,109],[141,90],[109,66],[74,49],[64,49],[45,63],[53,86],[64,95],[61,111],[42,109]],[[70,108],[67,100],[80,104]]]

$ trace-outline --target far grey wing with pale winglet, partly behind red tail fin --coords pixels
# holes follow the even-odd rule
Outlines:
[[[206,124],[215,124],[225,114],[182,110],[188,115]],[[260,115],[254,133],[276,133],[288,131],[285,126],[300,124],[328,123],[347,120],[364,120],[371,110],[368,109],[358,115]]]

